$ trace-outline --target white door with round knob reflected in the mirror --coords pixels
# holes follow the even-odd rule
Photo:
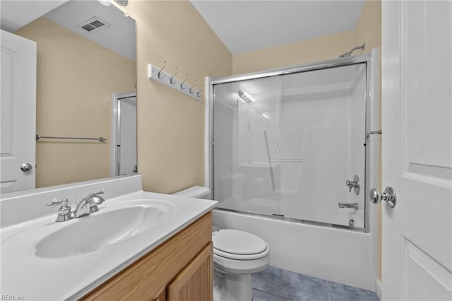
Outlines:
[[[4,194],[35,188],[36,43],[1,30],[0,44],[0,192]]]

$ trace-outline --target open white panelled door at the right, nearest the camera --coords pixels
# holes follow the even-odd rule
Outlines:
[[[383,300],[452,300],[451,26],[451,1],[383,1]]]

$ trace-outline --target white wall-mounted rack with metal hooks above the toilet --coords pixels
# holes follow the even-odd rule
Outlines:
[[[163,69],[165,68],[167,62],[162,66],[162,69],[159,69],[151,64],[148,64],[148,78],[152,79],[153,81],[157,81],[158,83],[161,83],[163,85],[167,85],[169,88],[172,88],[174,90],[179,91],[182,94],[188,95],[191,98],[194,98],[196,100],[201,100],[201,90],[197,90],[195,87],[196,80],[194,85],[191,86],[191,88],[187,89],[187,85],[185,85],[186,80],[189,78],[189,75],[187,74],[184,81],[180,80],[179,78],[175,77],[177,73],[174,73],[173,76],[169,75]]]

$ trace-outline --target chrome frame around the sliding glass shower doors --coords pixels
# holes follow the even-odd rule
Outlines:
[[[376,112],[371,112],[372,110],[375,110],[375,104],[378,101],[378,49],[373,49],[372,53],[369,54],[361,54],[353,57],[345,57],[345,58],[338,58],[338,59],[329,59],[326,61],[319,61],[314,62],[310,64],[304,64],[300,66],[293,66],[283,69],[273,69],[268,71],[260,71],[255,73],[246,73],[246,74],[239,74],[236,76],[225,76],[221,78],[206,78],[206,95],[208,95],[208,98],[206,98],[206,115],[208,120],[208,133],[206,135],[208,136],[206,138],[206,163],[208,163],[208,177],[206,177],[206,186],[210,188],[212,191],[212,196],[215,196],[215,189],[213,187],[213,146],[214,146],[214,139],[213,139],[213,105],[215,100],[215,95],[213,86],[222,84],[222,83],[234,83],[238,81],[249,81],[256,78],[267,78],[267,77],[273,77],[273,76],[283,76],[293,73],[302,73],[302,72],[309,72],[309,71],[316,71],[316,70],[323,70],[323,69],[332,69],[332,68],[338,68],[343,66],[352,66],[356,64],[366,64],[366,92],[364,95],[365,98],[365,124],[366,129],[364,130],[364,134],[367,134],[368,131],[372,131],[374,129],[371,128],[371,126],[376,126],[378,122],[375,122],[374,119],[378,119],[376,117]],[[374,70],[376,69],[376,70]],[[375,78],[376,77],[376,78]],[[374,114],[372,116],[371,114]],[[375,135],[373,135],[375,136]],[[359,232],[370,232],[370,222],[369,222],[369,202],[367,201],[367,191],[369,189],[369,179],[370,179],[370,168],[369,168],[369,162],[370,162],[370,148],[376,148],[377,146],[371,146],[371,139],[368,137],[364,137],[364,141],[366,141],[366,147],[365,147],[365,165],[364,165],[364,189],[363,189],[363,197],[364,197],[364,228],[355,228],[345,225],[333,225],[329,223],[323,223],[323,222],[317,222],[317,221],[311,221],[309,220],[309,223],[307,220],[298,220],[294,218],[284,218],[284,217],[278,217],[278,216],[268,216],[269,218],[278,218],[281,220],[289,220],[289,221],[297,221],[301,223],[308,223],[311,225],[323,225],[333,228],[342,228],[347,230],[355,230]],[[208,151],[207,151],[208,150]],[[374,183],[373,183],[374,184]],[[215,210],[224,210],[224,211],[233,211],[237,213],[244,213],[249,215],[256,215],[256,216],[267,216],[265,214],[261,213],[249,213],[249,212],[242,212],[242,211],[234,211],[229,210],[225,208],[216,208]]]

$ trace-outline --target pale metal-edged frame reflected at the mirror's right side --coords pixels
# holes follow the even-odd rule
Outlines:
[[[110,143],[110,176],[119,175],[119,130],[121,129],[121,107],[119,102],[124,98],[136,98],[136,91],[127,93],[113,93],[112,95],[112,126],[111,126],[111,143]]]

